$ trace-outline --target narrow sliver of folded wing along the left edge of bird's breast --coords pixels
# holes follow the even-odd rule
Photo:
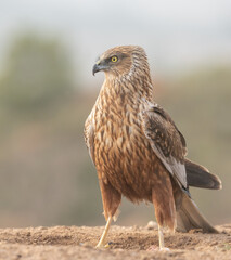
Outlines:
[[[85,142],[87,144],[91,160],[95,165],[95,160],[94,160],[94,125],[91,120],[91,114],[89,115],[89,117],[87,118],[87,120],[85,122],[84,133],[85,133]]]

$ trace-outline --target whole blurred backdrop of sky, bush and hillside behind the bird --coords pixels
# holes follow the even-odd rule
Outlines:
[[[118,44],[149,55],[155,101],[184,134],[189,157],[222,191],[192,188],[214,223],[231,221],[229,0],[0,2],[0,226],[103,225],[84,123],[103,82],[95,58]],[[152,205],[126,199],[120,225]]]

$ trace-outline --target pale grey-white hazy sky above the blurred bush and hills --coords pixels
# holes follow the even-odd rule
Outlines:
[[[92,80],[99,54],[140,44],[157,74],[231,63],[230,0],[0,0],[0,65],[14,34],[59,37]]]

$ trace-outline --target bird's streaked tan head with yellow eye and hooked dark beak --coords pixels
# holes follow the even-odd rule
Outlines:
[[[132,75],[136,70],[147,69],[144,50],[138,46],[120,46],[105,51],[93,66],[93,75],[104,72],[106,76],[119,77]]]

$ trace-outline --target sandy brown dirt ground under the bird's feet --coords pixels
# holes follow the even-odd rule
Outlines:
[[[231,259],[231,224],[217,226],[220,234],[200,231],[175,235],[165,232],[169,251],[158,251],[155,225],[116,226],[105,249],[95,249],[103,226],[54,226],[0,230],[0,260],[21,259]],[[152,250],[150,248],[152,247]],[[156,248],[156,249],[155,249]]]

